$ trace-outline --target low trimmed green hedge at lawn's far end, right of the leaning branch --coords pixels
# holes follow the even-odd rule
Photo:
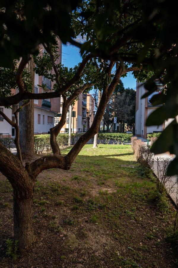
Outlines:
[[[124,142],[131,141],[133,134],[127,133],[98,133],[98,139],[100,144],[109,144],[112,140],[112,144],[123,144]]]

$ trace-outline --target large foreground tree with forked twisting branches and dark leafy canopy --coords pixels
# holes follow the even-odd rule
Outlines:
[[[22,3],[15,1],[15,4],[19,4],[19,2]],[[71,4],[73,2],[74,4]],[[0,29],[1,38],[4,41],[0,44],[2,51],[6,52],[4,52],[5,55],[9,48],[13,53],[9,53],[7,62],[3,55],[1,66],[12,67],[15,65],[16,68],[14,70],[0,69],[0,105],[7,107],[25,99],[47,99],[59,96],[63,97],[64,102],[61,120],[50,130],[53,155],[43,156],[32,163],[26,163],[24,167],[21,161],[0,143],[0,171],[13,187],[14,236],[22,248],[30,247],[34,241],[31,204],[38,174],[49,168],[70,169],[85,143],[98,132],[106,105],[120,78],[129,71],[140,71],[145,68],[153,71],[155,66],[151,64],[154,63],[155,48],[160,48],[160,37],[157,37],[160,20],[155,18],[155,13],[150,17],[150,12],[155,10],[152,1],[151,4],[150,1],[147,4],[147,1],[142,3],[142,1],[134,0],[129,2],[90,0],[82,1],[80,7],[77,7],[78,1],[67,1],[66,4],[63,4],[62,1],[39,1],[37,6],[34,3],[32,1],[29,4],[29,1],[24,0],[23,8],[21,6],[14,7],[14,3],[11,5],[9,1],[3,3],[5,8],[1,12],[3,15],[1,17],[2,23],[7,25],[7,28],[1,27]],[[31,11],[33,4],[36,6],[35,12]],[[49,4],[48,7],[47,4]],[[162,2],[159,2],[156,6],[160,8],[161,4]],[[150,8],[149,12],[148,8]],[[69,14],[71,10],[72,12]],[[62,12],[61,19],[59,14]],[[20,13],[26,17],[25,23],[23,20],[19,20]],[[49,19],[51,19],[50,24]],[[12,35],[13,27],[17,27],[18,31],[15,39]],[[149,31],[150,27],[155,31]],[[150,35],[144,34],[148,32]],[[64,43],[69,41],[80,47],[83,59],[79,66],[68,70],[61,64],[55,63],[56,38],[53,33],[57,34]],[[74,40],[78,35],[85,35],[87,41],[79,43]],[[23,42],[20,38],[23,39]],[[17,40],[20,40],[19,45],[17,45]],[[145,41],[149,42],[145,43]],[[34,94],[26,82],[28,78],[26,64],[30,60],[29,54],[38,53],[35,48],[39,43],[43,44],[47,54],[42,60],[36,57],[38,68],[35,71],[48,76],[47,70],[53,68],[55,74],[50,78],[55,81],[55,88],[50,93]],[[163,48],[163,52],[165,52],[165,48]],[[13,59],[18,59],[20,56],[22,58],[16,66],[16,60],[13,61]],[[113,69],[115,69],[115,73],[113,73]],[[141,71],[135,75],[143,78],[144,72]],[[17,86],[19,93],[12,95],[11,89]],[[66,156],[61,156],[56,137],[66,121],[69,106],[79,94],[92,86],[102,91],[93,124],[80,137],[70,152]]]

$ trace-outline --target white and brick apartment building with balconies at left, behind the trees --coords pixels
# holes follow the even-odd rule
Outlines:
[[[61,50],[62,50],[62,43],[58,40],[58,47],[59,47],[59,58],[58,63],[61,62]],[[43,57],[45,52],[43,46],[39,47],[39,55]],[[54,71],[51,71],[54,74]],[[40,85],[45,85],[45,91],[42,89]],[[35,74],[35,81],[34,81],[34,93],[43,93],[43,92],[51,92],[53,91],[54,82],[50,81],[49,79],[39,76]],[[13,94],[16,94],[16,89],[12,90]],[[10,118],[12,121],[15,120],[13,115],[14,111],[18,108],[17,105],[13,105],[12,109],[7,109],[4,107],[0,107],[0,109]],[[42,134],[48,133],[51,127],[54,127],[54,118],[55,113],[60,112],[60,98],[54,99],[39,99],[34,100],[34,133],[35,134]],[[0,137],[15,137],[15,128],[12,127],[3,117],[0,115]]]

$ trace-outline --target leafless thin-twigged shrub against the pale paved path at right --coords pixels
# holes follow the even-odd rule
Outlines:
[[[166,174],[170,161],[170,158],[156,158],[158,172],[157,190],[160,194],[162,194],[164,190],[166,190],[168,194],[171,194],[174,187],[174,182],[171,180],[171,176],[167,176]]]

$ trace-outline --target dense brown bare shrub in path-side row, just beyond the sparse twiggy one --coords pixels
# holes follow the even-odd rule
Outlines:
[[[137,161],[146,168],[152,169],[154,165],[154,154],[150,151],[149,147],[139,145],[138,152],[136,155]]]

